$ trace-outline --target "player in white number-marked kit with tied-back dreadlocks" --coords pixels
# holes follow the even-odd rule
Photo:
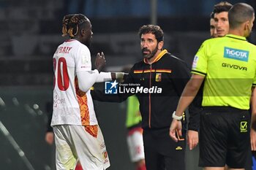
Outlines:
[[[99,73],[105,56],[98,53],[96,69],[91,70],[91,22],[85,15],[65,15],[63,36],[69,36],[53,55],[53,117],[51,126],[56,144],[56,169],[103,170],[110,166],[108,152],[99,128],[90,88],[94,82],[112,80]],[[116,74],[115,74],[116,75]]]

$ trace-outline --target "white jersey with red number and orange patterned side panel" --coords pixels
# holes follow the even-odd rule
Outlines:
[[[53,55],[53,118],[51,125],[97,125],[90,90],[79,90],[77,72],[91,71],[91,53],[69,39]]]

